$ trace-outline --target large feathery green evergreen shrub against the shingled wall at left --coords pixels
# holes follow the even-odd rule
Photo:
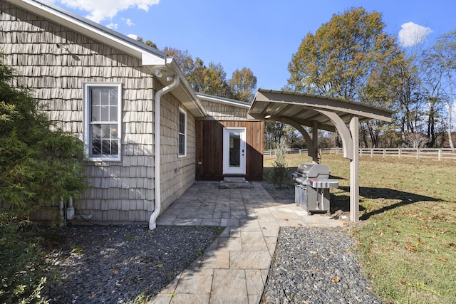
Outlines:
[[[56,130],[19,83],[0,57],[0,300],[43,303],[44,256],[28,216],[88,184],[82,142]]]

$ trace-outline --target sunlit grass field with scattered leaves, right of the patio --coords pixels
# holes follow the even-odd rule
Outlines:
[[[264,157],[265,174],[272,162]],[[323,154],[321,163],[339,182],[331,209],[348,211],[348,159]],[[359,180],[361,221],[350,231],[375,293],[385,303],[456,303],[456,162],[361,157]]]

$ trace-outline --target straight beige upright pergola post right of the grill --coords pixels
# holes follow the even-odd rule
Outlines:
[[[351,138],[353,139],[353,159],[350,160],[350,221],[359,221],[359,131],[358,116],[350,120]]]

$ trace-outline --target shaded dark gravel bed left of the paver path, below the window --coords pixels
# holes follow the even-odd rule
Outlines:
[[[217,227],[71,226],[48,254],[51,303],[134,303],[152,298],[200,256]]]

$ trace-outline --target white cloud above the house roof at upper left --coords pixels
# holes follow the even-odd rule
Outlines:
[[[86,18],[100,23],[105,19],[113,19],[119,11],[127,9],[142,9],[148,11],[149,7],[158,4],[160,0],[53,0],[68,6],[71,9],[87,11]]]

